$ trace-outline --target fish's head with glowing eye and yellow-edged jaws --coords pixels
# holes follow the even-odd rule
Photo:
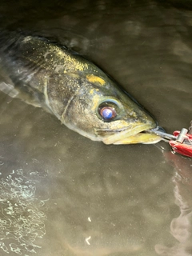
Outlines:
[[[86,74],[62,116],[70,129],[105,144],[155,143],[154,118],[105,74]]]

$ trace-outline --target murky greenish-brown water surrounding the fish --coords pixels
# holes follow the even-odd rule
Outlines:
[[[192,119],[190,7],[2,1],[0,23],[90,58],[172,132]],[[92,142],[42,109],[0,102],[0,255],[192,255],[189,158],[163,142]]]

